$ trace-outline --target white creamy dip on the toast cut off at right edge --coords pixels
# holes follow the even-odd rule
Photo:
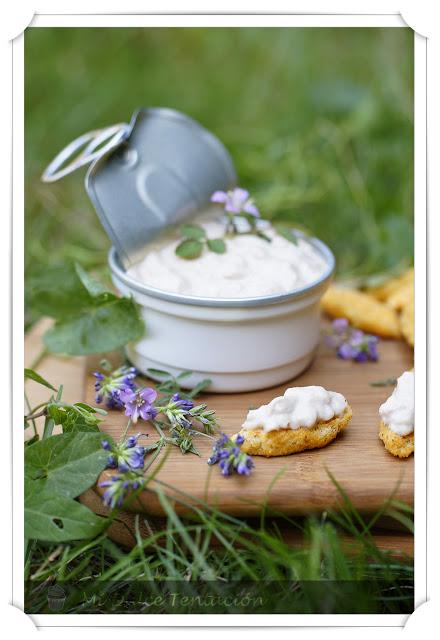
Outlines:
[[[388,400],[379,408],[384,424],[399,436],[414,431],[414,371],[405,371]]]

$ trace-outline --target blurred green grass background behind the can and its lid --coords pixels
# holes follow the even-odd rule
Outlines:
[[[340,275],[410,262],[413,32],[406,28],[30,28],[25,35],[26,273],[109,241],[53,156],[139,106],[184,111],[234,157],[266,217],[305,226]],[[28,309],[28,320],[33,317]]]

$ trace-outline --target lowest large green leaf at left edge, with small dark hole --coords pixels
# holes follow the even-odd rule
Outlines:
[[[25,480],[24,530],[31,540],[64,542],[97,535],[104,518],[64,496],[41,490],[40,482]]]

